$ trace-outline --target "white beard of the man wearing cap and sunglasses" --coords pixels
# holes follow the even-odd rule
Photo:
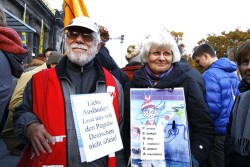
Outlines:
[[[69,60],[72,63],[75,63],[75,64],[80,65],[80,66],[84,66],[88,62],[93,60],[95,58],[96,53],[97,53],[96,50],[92,47],[90,49],[88,48],[86,53],[77,54],[72,50],[73,47],[78,47],[78,48],[88,48],[88,47],[85,44],[73,43],[70,46],[66,44],[67,57],[69,58]]]

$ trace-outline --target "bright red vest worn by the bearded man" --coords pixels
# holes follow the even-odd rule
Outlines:
[[[103,68],[106,79],[106,87],[115,87],[115,98],[113,106],[119,122],[118,89],[113,76]],[[52,136],[66,136],[65,108],[60,82],[55,68],[43,70],[35,74],[32,78],[33,112],[43,123],[45,129]],[[31,145],[27,145],[18,163],[18,167],[40,167],[43,165],[63,165],[67,166],[66,157],[66,137],[62,142],[51,145],[52,153],[34,156]],[[115,167],[115,157],[110,157],[108,167]]]

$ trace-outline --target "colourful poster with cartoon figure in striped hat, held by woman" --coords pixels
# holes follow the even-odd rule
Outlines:
[[[132,167],[191,167],[183,88],[130,90]]]

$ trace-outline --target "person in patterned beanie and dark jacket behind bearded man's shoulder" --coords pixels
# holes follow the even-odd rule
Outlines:
[[[103,67],[109,70],[114,75],[114,77],[121,83],[122,87],[124,87],[127,82],[127,77],[122,71],[122,69],[116,64],[115,60],[110,55],[108,48],[105,46],[106,42],[108,42],[110,39],[109,32],[107,28],[101,25],[99,25],[99,31],[101,38],[101,47],[98,53],[96,54],[96,59]]]

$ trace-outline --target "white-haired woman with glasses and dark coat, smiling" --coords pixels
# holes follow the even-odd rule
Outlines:
[[[196,81],[188,77],[179,65],[180,52],[174,38],[167,31],[146,39],[140,53],[144,66],[134,73],[125,88],[125,158],[130,156],[130,88],[183,87],[189,124],[190,148],[193,165],[206,163],[213,143],[213,122]]]

